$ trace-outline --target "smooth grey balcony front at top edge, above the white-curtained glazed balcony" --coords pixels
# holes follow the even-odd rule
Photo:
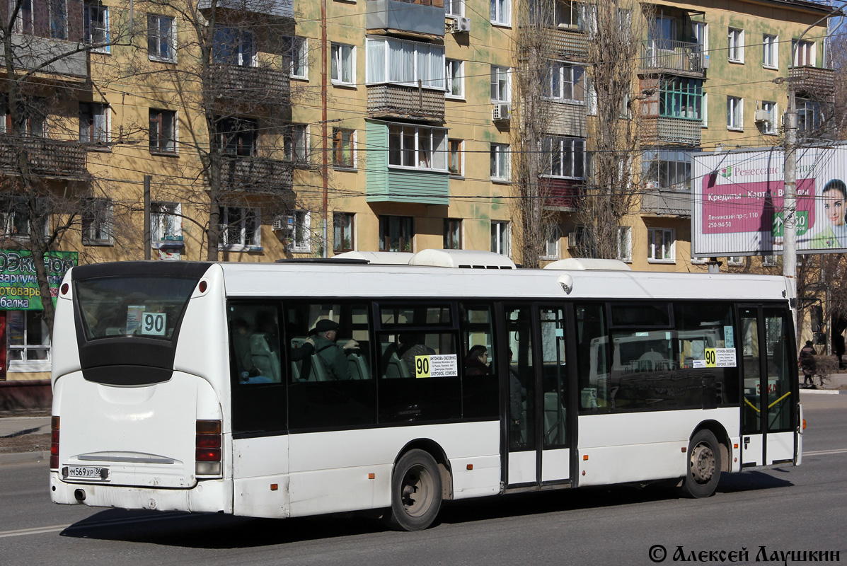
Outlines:
[[[444,36],[444,0],[367,0],[368,31],[411,32],[423,36]]]

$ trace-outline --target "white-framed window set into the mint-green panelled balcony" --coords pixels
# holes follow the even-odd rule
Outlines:
[[[388,126],[388,164],[445,171],[447,130],[415,125]]]

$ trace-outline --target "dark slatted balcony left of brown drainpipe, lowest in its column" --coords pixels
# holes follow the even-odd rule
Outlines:
[[[287,161],[227,155],[221,176],[227,189],[283,196],[287,193],[293,198],[292,170]]]

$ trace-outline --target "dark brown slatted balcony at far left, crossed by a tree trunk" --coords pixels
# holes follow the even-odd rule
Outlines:
[[[82,180],[86,177],[86,147],[76,142],[58,142],[37,137],[0,137],[0,169],[5,175],[17,175],[18,150],[23,147],[30,171],[59,179]]]

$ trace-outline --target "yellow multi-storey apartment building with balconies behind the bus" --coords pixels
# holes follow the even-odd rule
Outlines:
[[[80,263],[429,247],[524,263],[512,161],[544,153],[553,229],[539,255],[566,258],[592,182],[590,4],[551,0],[548,119],[526,147],[516,42],[540,4],[15,0],[0,9],[17,88],[0,137],[4,249],[32,247],[42,222],[47,247]],[[690,256],[689,154],[780,143],[787,80],[814,129],[832,85],[831,8],[642,6],[621,19],[649,25],[620,116],[639,122],[643,186],[619,256],[633,269],[706,269]],[[0,314],[7,378],[43,376],[40,308]]]

